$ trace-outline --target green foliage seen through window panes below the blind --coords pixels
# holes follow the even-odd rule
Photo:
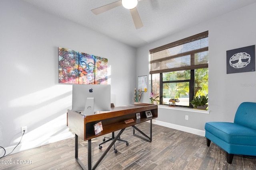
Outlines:
[[[169,104],[170,99],[179,99],[178,106],[189,106],[190,70],[163,74],[162,104]],[[152,92],[160,94],[160,74],[152,74]],[[180,81],[180,82],[179,82]],[[158,91],[156,91],[158,90]],[[194,96],[208,96],[208,68],[194,70]]]

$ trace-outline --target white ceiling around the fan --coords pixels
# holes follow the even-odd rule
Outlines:
[[[182,29],[255,3],[256,0],[141,0],[143,27],[136,29],[123,6],[99,15],[90,10],[117,0],[24,0],[132,47],[140,47]]]

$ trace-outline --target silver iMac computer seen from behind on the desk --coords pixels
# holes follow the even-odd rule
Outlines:
[[[73,84],[72,111],[93,115],[110,111],[110,84]]]

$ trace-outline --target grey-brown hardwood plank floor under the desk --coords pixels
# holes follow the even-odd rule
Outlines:
[[[149,134],[149,123],[137,125]],[[111,134],[106,135],[111,137]],[[232,164],[226,162],[226,152],[211,143],[206,146],[204,137],[152,125],[152,142],[132,135],[132,127],[126,128],[116,142],[117,153],[111,149],[96,170],[256,170],[256,158],[234,155]],[[92,166],[109,143],[98,145],[103,137],[92,139]],[[79,139],[79,158],[87,167],[87,141]],[[16,154],[2,160],[13,164],[0,164],[1,170],[81,170],[74,158],[75,139],[70,138]]]

